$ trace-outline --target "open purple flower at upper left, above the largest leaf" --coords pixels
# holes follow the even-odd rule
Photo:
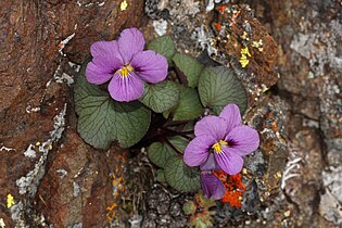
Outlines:
[[[156,84],[167,76],[166,59],[151,50],[143,51],[144,39],[137,28],[127,28],[113,41],[91,45],[92,61],[86,77],[90,84],[109,80],[111,97],[117,101],[132,101],[143,93],[143,81]]]

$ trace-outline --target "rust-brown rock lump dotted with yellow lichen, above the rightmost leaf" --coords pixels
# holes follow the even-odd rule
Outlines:
[[[249,5],[221,5],[217,11],[218,18],[213,22],[217,34],[213,42],[217,53],[212,58],[235,68],[246,89],[250,106],[254,106],[278,80],[275,67],[277,45]],[[249,63],[242,67],[239,61],[244,48],[250,54],[246,54]]]

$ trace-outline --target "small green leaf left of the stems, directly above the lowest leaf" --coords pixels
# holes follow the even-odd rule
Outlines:
[[[168,144],[153,142],[148,149],[148,156],[154,165],[164,168],[166,162],[177,154]]]

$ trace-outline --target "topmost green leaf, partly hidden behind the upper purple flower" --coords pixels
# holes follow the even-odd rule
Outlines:
[[[148,45],[148,49],[163,54],[168,65],[173,63],[173,56],[176,52],[174,40],[169,36],[157,37]]]

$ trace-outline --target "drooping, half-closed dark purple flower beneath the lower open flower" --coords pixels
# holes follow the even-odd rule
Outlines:
[[[214,155],[211,153],[206,160],[201,165],[201,187],[206,198],[214,198],[215,200],[220,200],[226,192],[224,183],[212,174],[212,170],[220,169],[217,165]]]

